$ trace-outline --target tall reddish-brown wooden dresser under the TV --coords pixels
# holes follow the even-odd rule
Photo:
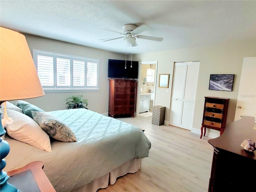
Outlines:
[[[108,114],[134,117],[137,81],[109,79]]]

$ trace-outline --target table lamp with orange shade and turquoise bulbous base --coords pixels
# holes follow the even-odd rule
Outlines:
[[[34,65],[26,38],[23,34],[0,27],[0,104],[8,100],[35,98],[44,95],[36,67]],[[2,113],[0,112],[0,115]],[[6,131],[0,120],[0,136]],[[17,192],[8,184],[9,176],[2,171],[6,166],[4,158],[10,146],[0,138],[0,188],[1,192]]]

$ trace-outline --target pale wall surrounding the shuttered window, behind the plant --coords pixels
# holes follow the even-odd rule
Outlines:
[[[31,54],[32,49],[58,52],[75,56],[83,56],[100,60],[100,82],[98,92],[65,92],[46,93],[40,98],[28,99],[27,101],[42,108],[45,111],[60,110],[66,108],[66,98],[82,94],[88,99],[88,108],[101,114],[108,113],[108,59],[125,59],[125,55],[98,50],[67,42],[25,34]]]

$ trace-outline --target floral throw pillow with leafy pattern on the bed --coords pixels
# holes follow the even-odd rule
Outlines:
[[[35,122],[52,138],[62,142],[76,142],[76,136],[62,120],[47,112],[32,111]]]

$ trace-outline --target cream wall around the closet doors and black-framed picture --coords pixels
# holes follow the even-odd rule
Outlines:
[[[166,107],[166,122],[169,121],[170,116],[170,98],[174,62],[200,61],[193,121],[193,128],[200,129],[204,109],[204,96],[230,98],[227,123],[234,121],[242,62],[244,57],[250,56],[256,56],[255,41],[233,42],[229,44],[216,44],[204,47],[151,52],[136,55],[134,58],[142,61],[158,61],[157,76],[159,76],[159,74],[170,74],[170,92],[166,92],[166,88],[156,87],[155,105]],[[210,74],[235,74],[233,91],[208,90]],[[158,85],[158,80],[156,84]],[[198,131],[199,130],[196,130],[195,132]],[[217,135],[219,134],[216,130],[207,132],[207,134],[209,134],[209,132]]]

